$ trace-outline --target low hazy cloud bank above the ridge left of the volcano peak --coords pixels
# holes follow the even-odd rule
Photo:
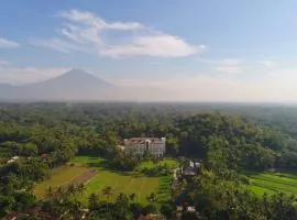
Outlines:
[[[19,67],[0,63],[0,82],[11,85],[36,82],[59,76],[69,69],[67,67]]]

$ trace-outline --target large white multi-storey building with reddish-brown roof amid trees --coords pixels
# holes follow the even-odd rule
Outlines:
[[[132,138],[124,140],[125,154],[143,156],[146,151],[154,156],[163,156],[166,152],[166,139]]]

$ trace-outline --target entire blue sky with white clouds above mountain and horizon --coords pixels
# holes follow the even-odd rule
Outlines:
[[[82,68],[176,100],[297,101],[295,0],[1,0],[0,82]]]

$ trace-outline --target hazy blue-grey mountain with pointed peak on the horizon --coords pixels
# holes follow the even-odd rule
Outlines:
[[[0,84],[0,100],[109,100],[119,89],[82,69],[72,69],[41,82]]]

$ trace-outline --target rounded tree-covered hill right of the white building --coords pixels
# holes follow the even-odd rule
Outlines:
[[[178,121],[180,153],[206,158],[212,168],[266,169],[292,165],[297,142],[234,116],[198,114]],[[278,163],[277,163],[278,162]]]

